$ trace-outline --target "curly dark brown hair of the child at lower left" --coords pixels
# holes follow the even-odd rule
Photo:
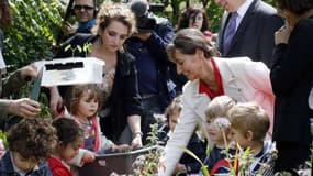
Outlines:
[[[56,130],[49,119],[23,119],[8,131],[9,150],[23,158],[49,156],[57,143]]]

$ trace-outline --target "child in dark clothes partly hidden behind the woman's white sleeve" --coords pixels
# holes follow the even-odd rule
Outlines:
[[[163,136],[160,140],[166,144],[170,136],[170,133],[175,130],[176,124],[179,122],[179,114],[182,109],[182,98],[178,96],[172,99],[171,103],[167,107],[165,116],[167,119],[167,128],[164,133],[167,136]],[[201,141],[200,136],[194,132],[191,136],[188,146],[193,154],[195,154],[201,161],[205,157],[205,143]],[[176,165],[176,173],[181,173],[179,176],[188,174],[195,174],[200,170],[200,163],[188,154],[183,154],[179,163]]]

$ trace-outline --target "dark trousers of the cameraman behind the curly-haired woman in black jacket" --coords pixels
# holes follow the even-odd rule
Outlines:
[[[152,131],[150,124],[155,124],[157,121],[154,114],[164,113],[167,107],[166,101],[160,96],[152,96],[142,99],[143,114],[142,114],[142,131],[143,131],[143,143],[147,144],[149,132]]]

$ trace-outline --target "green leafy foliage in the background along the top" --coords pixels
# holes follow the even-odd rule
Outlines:
[[[4,29],[3,56],[9,72],[34,61],[49,58],[55,50],[60,31],[64,11],[68,0],[9,0],[14,15],[14,24]],[[103,0],[99,0],[99,3]],[[104,0],[109,1],[109,0]],[[127,2],[127,0],[111,0]],[[265,0],[275,4],[275,0]],[[214,0],[154,0],[165,4],[165,11],[157,12],[167,16],[174,24],[181,11],[189,6],[201,6],[210,19],[210,29],[217,32],[223,10]]]

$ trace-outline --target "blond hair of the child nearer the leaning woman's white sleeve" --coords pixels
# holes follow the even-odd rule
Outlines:
[[[236,102],[228,96],[215,97],[205,108],[206,120],[217,117],[226,117],[227,111],[233,108]]]

